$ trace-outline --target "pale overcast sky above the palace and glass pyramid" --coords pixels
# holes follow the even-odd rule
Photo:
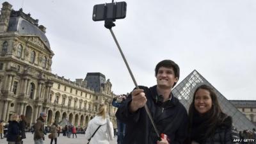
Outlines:
[[[111,33],[92,20],[93,5],[111,0],[6,1],[47,28],[52,73],[75,81],[101,72],[115,94],[134,88]],[[126,2],[127,17],[113,31],[138,84],[156,84],[156,64],[170,59],[179,82],[196,69],[227,99],[256,100],[255,0]]]

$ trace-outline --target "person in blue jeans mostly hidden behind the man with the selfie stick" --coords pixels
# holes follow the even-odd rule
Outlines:
[[[116,108],[120,108],[126,99],[126,95],[117,95],[114,97],[112,101],[112,106]],[[120,120],[116,119],[117,123],[117,144],[123,144],[124,136],[125,136],[125,124],[120,122]]]

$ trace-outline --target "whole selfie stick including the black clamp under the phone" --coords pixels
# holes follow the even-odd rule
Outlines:
[[[115,36],[114,32],[113,32],[112,29],[111,29],[113,26],[115,26],[113,20],[105,20],[104,26],[105,26],[107,29],[110,30],[110,33],[111,33],[111,35],[113,36],[113,38],[114,38],[114,40],[115,40],[115,42],[116,42],[116,45],[117,45],[117,47],[118,47],[118,50],[120,51],[120,54],[122,55],[122,58],[123,58],[123,60],[124,60],[124,63],[125,63],[125,65],[126,65],[128,71],[129,71],[129,73],[130,73],[130,75],[131,75],[131,77],[132,77],[132,81],[133,81],[133,83],[134,83],[135,86],[136,86],[136,89],[140,89],[139,86],[138,86],[138,84],[137,84],[137,82],[136,82],[136,80],[135,80],[135,78],[134,78],[134,76],[133,76],[133,74],[132,74],[131,68],[129,67],[129,65],[128,65],[128,63],[127,63],[127,60],[126,60],[126,58],[125,58],[125,56],[124,56],[124,53],[123,53],[123,51],[122,51],[120,45],[118,44],[118,42],[117,42],[117,40],[116,40],[116,36]],[[152,115],[151,115],[151,113],[150,113],[150,111],[149,111],[149,109],[148,109],[147,104],[145,104],[144,108],[145,108],[145,110],[146,110],[146,112],[147,112],[147,115],[148,115],[148,117],[149,117],[149,119],[150,119],[151,124],[152,124],[153,127],[154,127],[154,130],[156,131],[157,137],[160,138],[159,132],[157,131],[157,128],[156,128],[156,124],[154,123],[154,120],[153,120]]]

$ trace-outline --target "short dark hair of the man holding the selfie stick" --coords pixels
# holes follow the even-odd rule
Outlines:
[[[157,76],[157,72],[160,67],[167,67],[167,68],[173,68],[174,75],[175,77],[180,77],[180,68],[179,65],[177,65],[174,61],[172,60],[163,60],[157,63],[156,68],[155,68],[155,76]],[[173,84],[175,86],[176,83]]]

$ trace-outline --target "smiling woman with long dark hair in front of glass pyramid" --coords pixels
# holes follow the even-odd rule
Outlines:
[[[221,111],[217,95],[205,84],[196,88],[189,107],[189,140],[187,143],[230,144],[239,139],[231,116]]]

